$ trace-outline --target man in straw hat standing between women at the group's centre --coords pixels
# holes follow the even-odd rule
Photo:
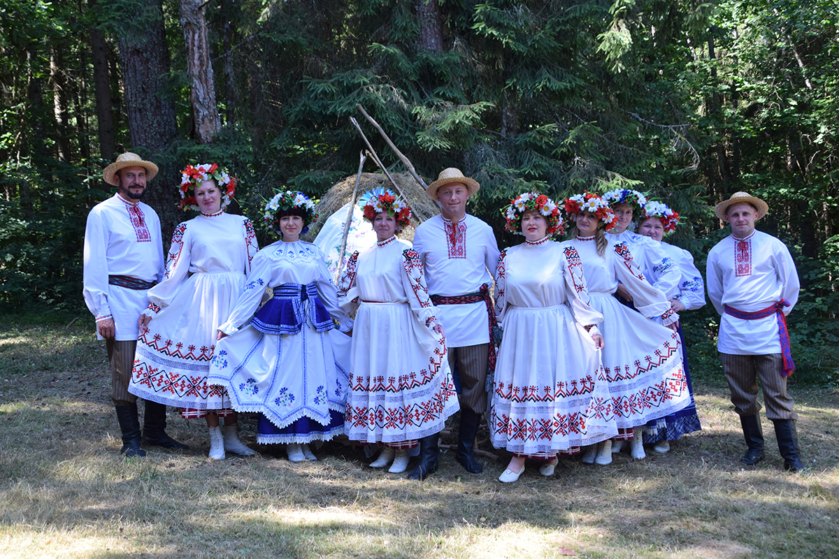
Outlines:
[[[414,233],[414,251],[425,264],[425,278],[437,319],[446,329],[451,369],[461,385],[460,440],[456,459],[466,471],[479,474],[474,445],[481,414],[487,410],[487,372],[495,370],[492,327],[495,314],[489,297],[498,267],[498,243],[492,227],[466,214],[466,199],[480,184],[460,169],[446,168],[428,187],[429,197],[440,205],[435,215]],[[420,464],[409,479],[425,479],[437,469],[437,437],[420,439]]]

